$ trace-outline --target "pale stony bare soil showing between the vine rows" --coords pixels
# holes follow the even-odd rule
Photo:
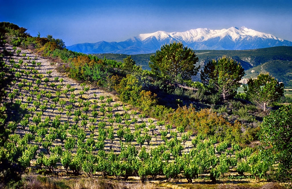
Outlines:
[[[6,46],[6,49],[10,50],[10,51],[13,51],[12,46]],[[27,60],[27,57],[31,58],[31,60]],[[59,80],[58,80],[58,82],[55,82],[55,84],[56,85],[63,85],[61,91],[66,89],[66,85],[70,85],[71,88],[75,88],[74,94],[76,94],[76,101],[78,100],[78,98],[79,98],[78,94],[82,90],[82,86],[80,85],[80,83],[74,81],[73,79],[70,79],[66,75],[66,73],[62,74],[62,73],[57,72],[56,71],[56,63],[52,62],[51,60],[49,60],[47,58],[41,57],[38,54],[35,54],[30,50],[24,50],[24,49],[21,49],[20,56],[16,56],[15,55],[12,58],[15,60],[15,63],[18,63],[20,59],[23,59],[24,63],[28,64],[26,67],[22,65],[21,69],[25,69],[25,70],[28,70],[28,67],[38,67],[38,66],[32,65],[32,60],[35,60],[37,63],[41,63],[41,66],[38,69],[39,74],[43,74],[44,78],[46,78],[46,77],[49,78],[49,80],[50,80],[49,85],[50,85],[50,83],[54,82],[54,78],[55,77],[58,77]],[[6,62],[9,63],[9,58],[6,58]],[[48,71],[52,71],[50,76],[47,74]],[[60,82],[61,78],[63,79],[62,83]],[[27,82],[33,81],[32,75],[29,75],[27,78],[24,75],[22,75],[22,78],[20,80],[23,80],[23,79],[27,79]],[[44,80],[44,79],[42,79],[42,80]],[[45,82],[42,81],[42,83],[39,86],[39,91],[45,90],[45,91],[47,91],[47,93],[50,91],[51,94],[52,94],[52,98],[55,97],[56,96],[56,91],[57,91],[56,88],[51,88],[50,86],[46,86],[45,87],[44,84],[45,84]],[[36,85],[36,84],[33,84],[33,85]],[[112,97],[112,99],[113,99],[113,102],[111,103],[112,105],[115,104],[115,103],[119,103],[120,104],[120,106],[118,107],[117,110],[116,109],[113,110],[113,114],[116,114],[116,113],[123,114],[123,113],[125,113],[125,110],[123,109],[123,106],[122,106],[123,103],[118,100],[118,97],[116,97],[115,95],[112,95],[109,92],[105,92],[104,90],[100,90],[98,88],[94,88],[91,85],[86,85],[86,86],[90,87],[90,90],[88,92],[86,92],[84,95],[82,95],[83,101],[89,100],[93,104],[93,101],[97,100],[98,101],[97,104],[100,106],[102,103],[105,103],[105,100],[107,98]],[[11,86],[11,88],[13,90],[14,88],[15,89],[18,88],[18,86],[17,85],[15,87]],[[26,94],[25,97],[23,98],[23,103],[27,103],[27,96],[29,95],[29,92],[30,92],[29,90],[24,90],[24,89],[21,90],[22,94]],[[99,100],[100,96],[104,96],[105,99],[103,101]],[[70,92],[68,93],[68,97],[70,97]],[[21,99],[21,98],[18,97],[18,99]],[[9,99],[7,99],[7,101],[8,100]],[[43,98],[41,101],[44,101],[44,100],[46,100],[46,98]],[[66,105],[69,105],[69,98],[66,98],[66,96],[64,94],[60,95],[60,100],[66,101]],[[50,100],[50,102],[48,103],[48,109],[46,111],[44,111],[44,114],[42,116],[42,121],[44,121],[45,117],[50,117],[51,120],[53,120],[57,115],[61,116],[62,122],[63,121],[67,121],[67,115],[65,113],[66,110],[64,110],[63,112],[59,112],[58,108],[61,108],[61,106],[59,104],[57,104],[56,108],[50,108],[51,104],[53,104],[52,100]],[[137,124],[140,124],[140,123],[142,123],[142,121],[145,121],[146,125],[149,126],[150,123],[148,122],[148,119],[152,119],[152,118],[148,117],[148,118],[145,118],[145,119],[141,120],[139,118],[139,113],[136,114],[135,110],[133,108],[131,108],[129,105],[127,105],[127,104],[124,104],[124,105],[129,108],[129,110],[127,112],[131,115],[131,118],[133,119],[135,117],[138,120]],[[33,104],[30,103],[29,107],[32,107],[32,106],[33,106]],[[79,109],[79,108],[82,108],[82,105],[81,105],[81,107],[79,107],[79,103],[76,102],[72,112],[74,110]],[[38,109],[37,111],[40,111],[40,110]],[[91,117],[91,111],[89,111],[88,115],[89,115],[89,118],[90,118]],[[72,120],[73,117],[74,117],[74,115],[72,115],[71,118],[69,119],[70,123],[72,123],[72,124],[74,123],[74,121]],[[105,121],[106,122],[107,119],[108,119],[107,117],[102,119],[102,114],[99,112],[99,115],[97,117],[98,122],[100,122],[100,121]],[[152,120],[154,120],[154,119],[152,119]],[[32,123],[32,118],[30,118],[30,122]],[[98,122],[95,123],[95,125],[97,125]],[[87,125],[86,130],[85,130],[86,131],[86,135],[87,135],[86,138],[89,138],[89,135],[91,133],[89,131],[89,129],[88,129],[88,126],[90,124],[91,123],[88,121],[88,125]],[[154,120],[154,124],[156,124],[156,120]],[[115,132],[114,132],[115,133],[115,139],[113,141],[112,149],[114,150],[114,153],[118,154],[120,152],[120,143],[119,143],[119,139],[117,138],[117,134],[116,134],[116,132],[118,130],[118,126],[117,126],[116,123],[114,123],[113,126],[114,126],[114,129],[115,129]],[[108,127],[109,127],[109,124],[107,124],[106,128],[108,128]],[[132,132],[135,131],[134,124],[131,124],[130,128],[131,128]],[[149,134],[152,136],[150,144],[147,145],[147,142],[145,142],[145,145],[143,145],[143,146],[146,147],[147,151],[150,151],[151,148],[154,148],[155,146],[157,146],[157,145],[159,145],[161,143],[164,143],[164,141],[161,140],[161,135],[159,133],[159,129],[160,128],[157,126],[157,128],[154,131],[154,133],[157,134],[157,138],[155,138],[152,135],[152,132],[149,131]],[[165,126],[162,126],[162,129],[165,130]],[[171,130],[177,132],[176,128],[173,128]],[[15,133],[20,134],[20,135],[24,135],[25,133],[28,133],[28,132],[29,132],[28,126],[23,130],[23,129],[21,129],[20,125],[18,126],[18,129],[15,131]],[[95,134],[95,139],[97,139],[97,137],[98,137],[97,129],[95,129],[95,133],[94,134]],[[70,136],[70,134],[67,133],[67,136]],[[168,134],[167,137],[170,137],[170,134]],[[191,140],[192,140],[193,137],[194,136],[191,136],[190,139],[185,143],[185,145],[184,145],[185,148],[183,150],[184,152],[189,151],[189,149],[192,147]],[[140,150],[140,147],[136,143],[136,141],[133,141],[132,144],[135,144],[136,148],[138,150]],[[59,139],[56,139],[54,141],[53,147],[56,146],[56,145],[61,145],[62,147],[64,147],[64,143],[62,143]],[[109,151],[110,150],[110,146],[111,146],[110,140],[106,139],[105,140],[105,150]],[[75,151],[76,151],[76,148],[77,147],[75,147]],[[40,147],[39,151],[46,151],[46,150],[43,149],[42,147]],[[74,152],[74,150],[72,152]],[[32,165],[34,165],[34,161],[35,160],[33,160],[31,162]],[[28,171],[32,171],[32,170],[34,170],[33,166],[28,169]],[[58,168],[56,169],[56,172],[59,172],[58,176],[61,176],[64,179],[66,179],[66,178],[69,179],[69,178],[72,178],[72,176],[73,176],[71,174],[65,175],[64,174],[65,170],[61,165],[58,165]],[[29,173],[29,174],[33,174],[33,173]],[[232,173],[232,171],[231,171],[231,173],[229,173],[229,175],[232,175],[232,174],[236,175],[235,172]],[[96,174],[97,177],[100,176],[100,175],[101,174]],[[114,178],[109,177],[109,179],[114,179]],[[129,179],[130,179],[130,181],[137,181],[139,179],[139,177],[130,177]],[[177,185],[184,184],[184,183],[187,182],[186,179],[184,179],[183,177],[180,177],[179,179],[172,180],[174,185],[171,184],[171,185],[166,186],[165,184],[163,184],[164,180],[165,180],[164,176],[158,176],[155,182],[157,184],[159,184],[159,183],[161,184],[162,183],[161,187],[167,187],[167,188],[175,188],[175,187],[178,187]],[[225,179],[225,180],[220,181],[220,182],[221,183],[231,183],[231,182],[232,183],[250,183],[252,181],[251,181],[251,179],[233,179],[232,181],[230,181],[229,179]],[[194,184],[210,184],[210,183],[211,183],[211,181],[209,181],[209,180],[207,181],[205,179],[197,179]],[[194,185],[194,184],[192,184],[192,185]],[[180,186],[180,187],[183,187],[183,186]],[[190,188],[190,186],[188,185],[187,188]]]

